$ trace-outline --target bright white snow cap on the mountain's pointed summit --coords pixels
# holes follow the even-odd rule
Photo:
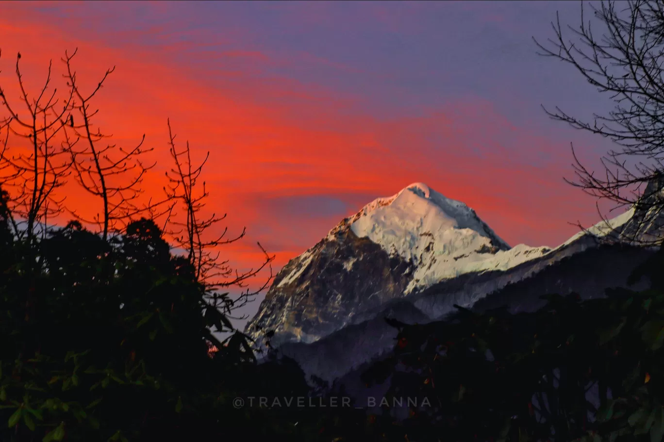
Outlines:
[[[416,265],[406,292],[461,273],[503,270],[550,249],[510,248],[463,202],[413,183],[349,219],[351,230]]]

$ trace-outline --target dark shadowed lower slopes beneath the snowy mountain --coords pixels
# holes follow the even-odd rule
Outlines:
[[[627,287],[627,277],[632,269],[650,254],[648,250],[632,247],[589,248],[560,259],[531,277],[508,283],[479,299],[472,308],[483,311],[507,305],[512,311],[535,311],[544,303],[540,295],[582,293],[586,298],[601,297],[608,288]],[[462,279],[472,277],[467,275]],[[646,284],[647,281],[640,281],[631,288],[643,289]],[[441,285],[440,289],[431,289],[432,298],[435,299],[436,295],[446,298],[445,287]],[[448,313],[452,311],[454,309],[450,308]],[[384,305],[380,312],[371,315],[371,319],[344,327],[311,344],[289,342],[280,346],[278,351],[297,361],[305,373],[332,382],[347,377],[365,362],[380,358],[394,348],[397,332],[384,321],[385,317],[408,324],[433,320],[415,307],[412,300],[398,299]]]

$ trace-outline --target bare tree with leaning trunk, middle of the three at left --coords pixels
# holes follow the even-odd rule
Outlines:
[[[151,209],[161,204],[153,204],[151,200],[147,204],[139,204],[139,197],[143,193],[140,187],[143,177],[155,165],[145,165],[141,156],[153,149],[143,147],[145,134],[137,145],[131,149],[123,149],[106,143],[112,135],[102,133],[99,128],[94,131],[92,119],[99,110],[92,111],[90,106],[115,67],[106,71],[90,94],[84,94],[76,81],[76,72],[72,70],[71,62],[76,52],[77,50],[74,50],[71,55],[65,52],[65,57],[62,58],[66,66],[64,77],[73,97],[68,107],[70,113],[62,120],[63,146],[71,156],[76,181],[88,193],[100,198],[103,208],[102,213],[96,214],[93,219],[84,218],[74,211],[70,212],[82,222],[97,224],[106,240],[110,232],[118,232],[133,217],[151,212]],[[74,115],[78,123],[74,120]]]

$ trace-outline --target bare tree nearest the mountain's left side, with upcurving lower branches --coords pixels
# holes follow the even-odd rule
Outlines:
[[[222,309],[224,315],[227,317],[238,319],[232,317],[230,313],[252,301],[255,295],[268,286],[273,276],[271,263],[275,257],[270,256],[259,242],[258,247],[262,251],[264,259],[254,269],[238,272],[230,266],[228,260],[220,260],[220,251],[218,249],[221,246],[243,238],[246,228],[242,230],[240,235],[234,238],[226,238],[228,227],[224,228],[223,232],[218,236],[209,238],[208,233],[212,232],[212,229],[226,218],[226,214],[216,216],[214,213],[206,218],[202,212],[209,194],[205,181],[199,183],[199,179],[210,153],[206,154],[205,159],[203,159],[200,165],[193,165],[189,141],[185,143],[185,147],[178,149],[175,146],[176,135],[173,135],[170,119],[167,121],[167,125],[169,131],[169,151],[173,158],[174,167],[166,172],[169,184],[164,186],[164,190],[168,200],[180,202],[180,206],[184,211],[183,217],[185,218],[185,220],[177,220],[177,214],[169,213],[169,222],[175,228],[179,228],[179,230],[172,230],[170,232],[175,240],[175,247],[185,250],[187,253],[187,258],[195,269],[197,279],[205,283],[210,290],[210,301],[214,307]],[[265,267],[269,269],[266,281],[258,289],[253,291],[247,288],[248,281],[256,277]],[[234,298],[230,297],[228,293],[218,293],[218,290],[232,286],[242,289],[246,288],[246,291],[243,291],[238,297]]]

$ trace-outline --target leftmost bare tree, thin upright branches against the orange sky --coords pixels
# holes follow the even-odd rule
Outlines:
[[[15,234],[18,238],[32,242],[36,237],[35,230],[39,227],[45,231],[48,218],[64,210],[64,197],[58,198],[55,190],[64,185],[71,163],[64,155],[66,152],[62,147],[54,142],[54,137],[64,127],[62,117],[68,111],[72,95],[68,94],[60,102],[64,102],[62,111],[56,110],[57,89],[52,88],[52,92],[48,93],[51,61],[48,64],[46,81],[33,98],[27,92],[23,81],[20,60],[19,52],[16,58],[19,100],[25,105],[27,115],[19,113],[19,108],[11,104],[5,88],[0,85],[0,104],[9,114],[0,120],[0,134],[2,129],[6,129],[5,137],[1,141],[0,181],[11,194],[10,210],[14,215],[12,225]],[[9,135],[14,135],[19,140],[27,140],[25,149],[13,149],[15,152],[18,150],[18,153],[9,155]]]

